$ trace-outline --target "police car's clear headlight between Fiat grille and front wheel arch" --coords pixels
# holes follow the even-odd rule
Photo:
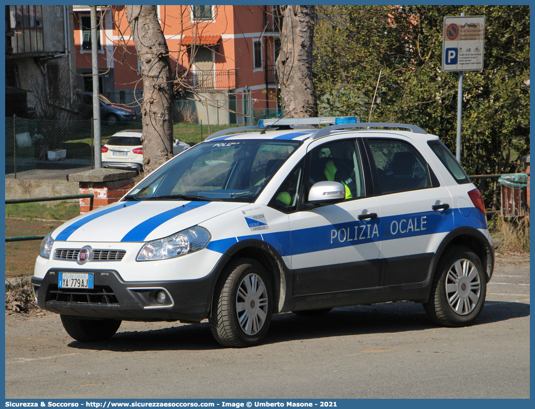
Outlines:
[[[210,241],[210,233],[195,226],[163,239],[149,241],[137,254],[137,261],[165,260],[202,250]]]

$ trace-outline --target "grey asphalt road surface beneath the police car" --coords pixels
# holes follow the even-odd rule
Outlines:
[[[419,304],[273,317],[262,345],[225,349],[208,323],[123,322],[72,340],[56,314],[6,314],[9,398],[529,398],[529,256],[499,257],[477,323]]]

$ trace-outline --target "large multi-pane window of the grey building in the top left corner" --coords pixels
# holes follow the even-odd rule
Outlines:
[[[9,31],[13,33],[11,46],[13,54],[44,50],[43,12],[41,6],[6,6]],[[7,31],[7,27],[6,27]]]

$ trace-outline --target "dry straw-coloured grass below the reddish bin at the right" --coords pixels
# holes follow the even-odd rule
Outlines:
[[[526,217],[508,217],[495,215],[488,222],[488,230],[494,239],[498,253],[529,253],[530,224]]]

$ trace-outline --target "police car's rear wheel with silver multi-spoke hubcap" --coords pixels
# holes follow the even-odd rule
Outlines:
[[[423,306],[433,321],[463,327],[481,313],[486,291],[487,278],[479,257],[468,247],[452,246],[440,258],[430,298]]]

